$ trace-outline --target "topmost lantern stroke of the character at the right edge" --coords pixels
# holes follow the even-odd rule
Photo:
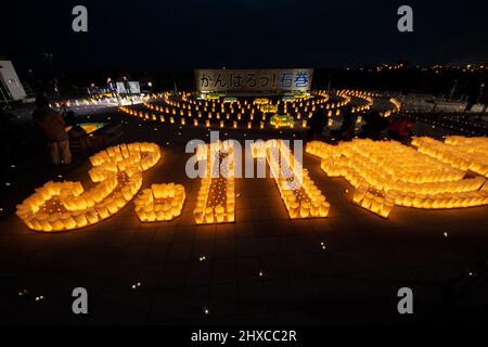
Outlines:
[[[447,163],[463,171],[470,170],[488,177],[488,139],[447,137],[445,142],[427,138],[414,138],[418,151]]]

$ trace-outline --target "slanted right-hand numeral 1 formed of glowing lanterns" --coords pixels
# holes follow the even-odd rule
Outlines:
[[[255,158],[266,158],[288,216],[295,218],[326,217],[330,204],[308,176],[308,171],[294,157],[281,140],[252,144]]]

